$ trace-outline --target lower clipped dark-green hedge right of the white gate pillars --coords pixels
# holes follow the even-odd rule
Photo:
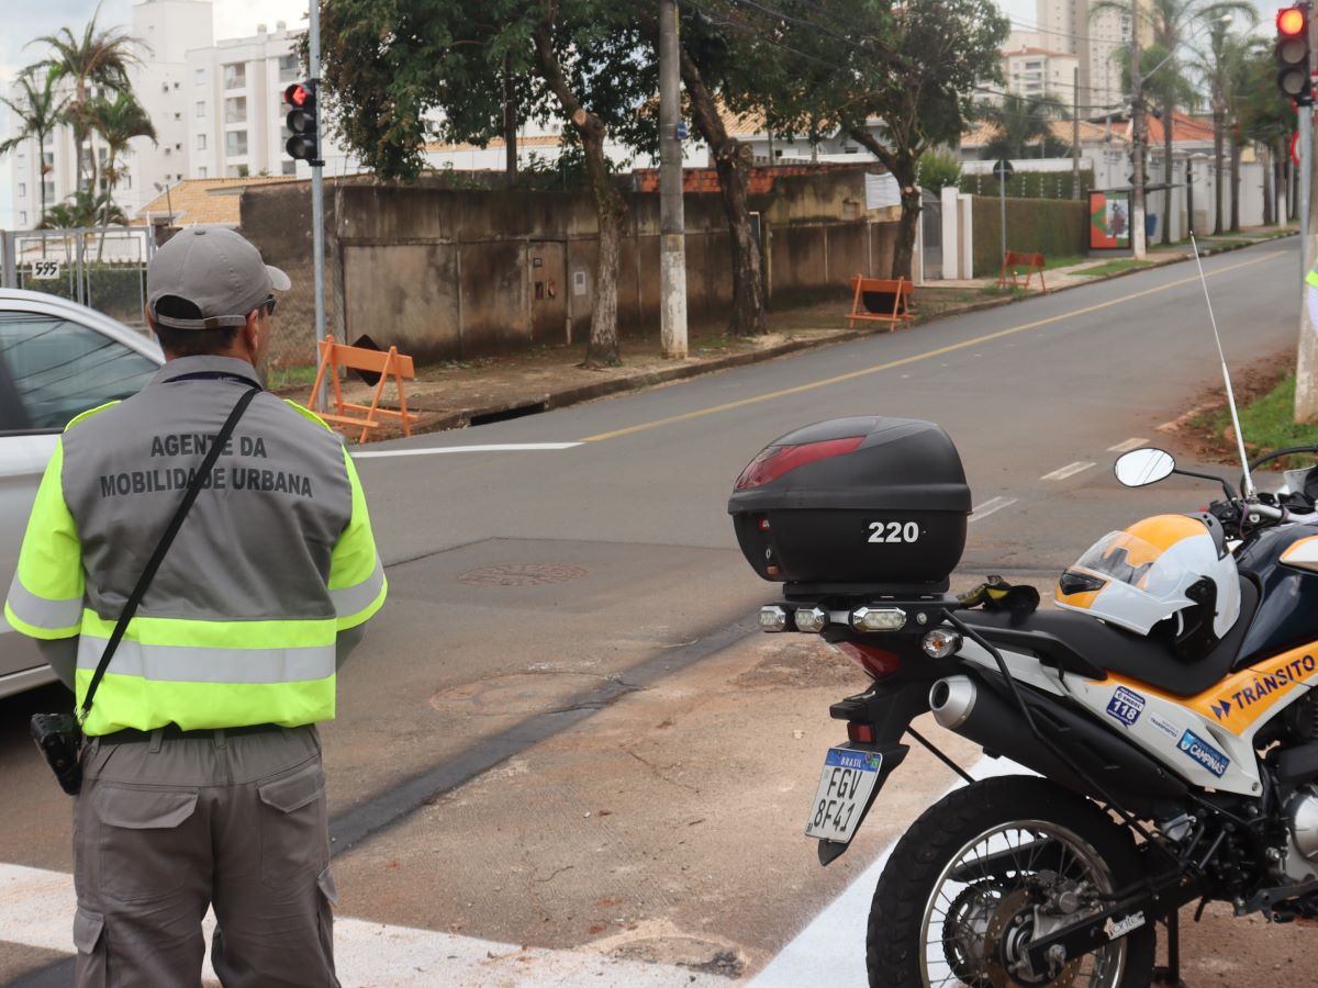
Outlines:
[[[974,228],[974,275],[1002,270],[1002,204],[970,198]],[[1058,199],[1008,199],[1007,249],[1044,257],[1069,257],[1089,250],[1089,208]]]

